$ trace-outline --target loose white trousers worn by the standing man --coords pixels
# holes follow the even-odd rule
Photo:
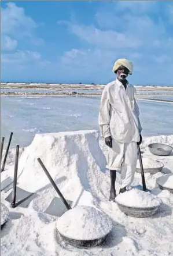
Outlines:
[[[109,148],[109,147],[108,147]],[[137,165],[137,143],[119,143],[112,140],[112,148],[108,149],[107,165],[109,170],[122,170],[120,188],[131,186]]]

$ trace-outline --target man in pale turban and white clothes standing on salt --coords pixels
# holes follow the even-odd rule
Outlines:
[[[101,137],[109,147],[107,168],[110,170],[109,200],[115,200],[116,170],[122,169],[120,193],[125,192],[134,179],[137,165],[137,144],[142,142],[136,89],[126,80],[133,65],[127,59],[118,59],[113,66],[117,78],[102,91],[98,123]]]

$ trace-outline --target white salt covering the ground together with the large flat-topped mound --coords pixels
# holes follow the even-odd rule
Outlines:
[[[148,144],[157,142],[173,145],[173,135],[144,137],[141,145],[142,156],[151,157]],[[16,149],[12,151],[6,162],[6,170],[1,173],[1,182],[7,177],[13,179]],[[19,205],[10,209],[10,221],[7,221],[1,230],[1,254],[3,256],[173,255],[173,194],[156,186],[157,177],[173,171],[172,154],[167,157],[152,155],[154,160],[159,159],[164,163],[163,173],[145,175],[146,187],[150,189],[150,193],[157,195],[163,201],[160,211],[153,218],[125,216],[115,202],[108,200],[110,176],[109,170],[105,168],[104,155],[108,157],[108,147],[104,140],[98,141],[97,131],[36,134],[31,145],[25,148],[20,157],[17,187],[36,191],[37,197],[27,208]],[[42,159],[64,197],[73,201],[72,207],[75,207],[74,205],[97,207],[112,219],[113,228],[104,244],[81,250],[69,246],[58,234],[55,236],[58,218],[45,214],[44,211],[51,200],[58,195],[39,165],[38,157]],[[141,184],[141,173],[135,172],[132,186],[141,187]],[[116,191],[119,191],[119,172],[115,186]],[[12,189],[8,192],[1,191],[3,204],[9,205],[5,198],[11,191]],[[148,194],[143,193],[145,196]],[[124,195],[128,195],[127,192]],[[137,201],[134,195],[132,197],[133,201]]]

